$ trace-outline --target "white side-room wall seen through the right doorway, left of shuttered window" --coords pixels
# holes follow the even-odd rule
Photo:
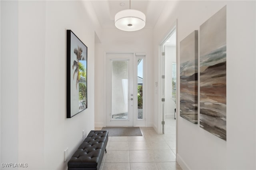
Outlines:
[[[176,62],[176,47],[165,47],[165,115],[174,117],[176,105],[172,100],[172,63]]]

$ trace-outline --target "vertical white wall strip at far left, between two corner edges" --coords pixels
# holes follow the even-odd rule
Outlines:
[[[18,2],[18,162],[30,168],[44,163],[45,10]]]

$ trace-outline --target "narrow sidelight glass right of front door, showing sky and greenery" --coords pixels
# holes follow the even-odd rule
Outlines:
[[[138,119],[143,119],[143,59],[138,59]]]

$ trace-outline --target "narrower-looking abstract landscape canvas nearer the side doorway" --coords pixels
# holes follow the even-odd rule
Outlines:
[[[180,116],[198,123],[198,31],[180,42]]]

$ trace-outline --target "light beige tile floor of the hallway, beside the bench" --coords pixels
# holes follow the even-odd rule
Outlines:
[[[143,136],[109,136],[100,170],[182,170],[175,162],[176,121],[165,125],[165,134],[140,127]]]

